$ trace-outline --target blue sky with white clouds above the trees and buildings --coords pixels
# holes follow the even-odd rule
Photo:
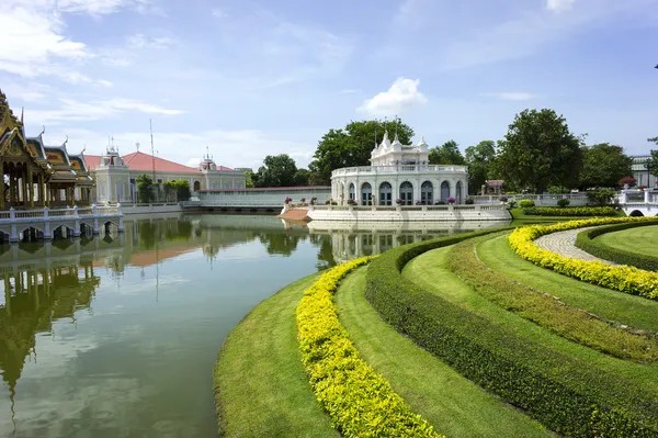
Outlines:
[[[0,89],[71,153],[313,159],[330,128],[500,139],[551,108],[587,142],[658,135],[658,0],[0,0]],[[137,144],[139,146],[137,146]]]

